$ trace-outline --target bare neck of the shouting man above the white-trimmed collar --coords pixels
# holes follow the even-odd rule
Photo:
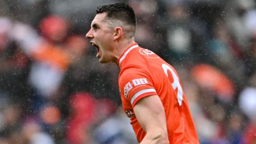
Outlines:
[[[118,59],[121,56],[121,54],[124,53],[124,51],[126,50],[126,48],[131,45],[134,44],[134,38],[131,39],[127,39],[126,41],[123,42],[117,42],[116,46],[115,46],[115,54],[114,54],[114,60],[113,62],[116,63],[116,65],[118,66]]]

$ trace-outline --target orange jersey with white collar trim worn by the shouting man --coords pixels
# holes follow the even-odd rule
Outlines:
[[[146,132],[135,117],[133,107],[142,98],[158,95],[164,106],[170,143],[199,143],[180,78],[169,63],[135,43],[121,55],[119,67],[123,109],[139,142]]]

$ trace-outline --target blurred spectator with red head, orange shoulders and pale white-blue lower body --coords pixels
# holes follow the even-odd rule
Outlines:
[[[50,97],[58,90],[70,65],[70,55],[60,45],[67,36],[68,27],[64,19],[49,16],[42,20],[40,28],[46,42],[31,53],[36,62],[31,66],[29,80],[39,95]]]

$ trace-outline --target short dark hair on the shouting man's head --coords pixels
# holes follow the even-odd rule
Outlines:
[[[125,3],[114,3],[97,7],[96,13],[107,13],[108,18],[118,19],[136,27],[136,16],[131,6]]]

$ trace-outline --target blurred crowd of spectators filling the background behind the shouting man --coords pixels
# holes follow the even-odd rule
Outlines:
[[[85,39],[113,2],[0,1],[0,143],[138,143],[118,67]],[[123,2],[135,41],[177,69],[201,143],[256,143],[256,1]]]

